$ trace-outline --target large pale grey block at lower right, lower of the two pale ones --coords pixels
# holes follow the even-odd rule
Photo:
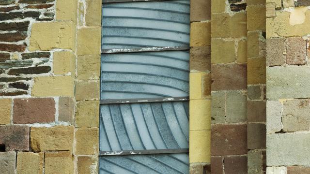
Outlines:
[[[268,166],[310,166],[310,134],[267,134]]]

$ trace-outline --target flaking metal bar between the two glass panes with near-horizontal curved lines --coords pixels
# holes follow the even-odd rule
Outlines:
[[[131,52],[150,52],[150,51],[174,51],[189,50],[189,46],[152,46],[145,48],[113,48],[101,49],[101,53],[131,53]]]

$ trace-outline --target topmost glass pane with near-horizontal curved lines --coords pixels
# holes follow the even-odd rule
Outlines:
[[[189,0],[104,3],[102,49],[189,45]]]

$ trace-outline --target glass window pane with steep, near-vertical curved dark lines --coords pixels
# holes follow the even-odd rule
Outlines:
[[[188,148],[188,102],[100,105],[100,151]]]

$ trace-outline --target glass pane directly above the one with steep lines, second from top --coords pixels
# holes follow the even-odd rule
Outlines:
[[[101,99],[188,96],[188,51],[101,55]]]

